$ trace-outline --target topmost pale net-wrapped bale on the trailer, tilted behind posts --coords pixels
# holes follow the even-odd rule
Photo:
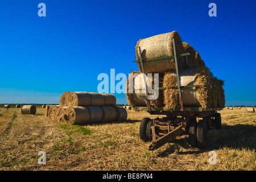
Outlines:
[[[180,35],[177,31],[172,31],[166,34],[151,36],[150,38],[140,39],[135,46],[135,54],[137,60],[141,60],[139,49],[141,47],[142,60],[155,59],[159,57],[167,57],[174,55],[172,39],[175,39],[177,55],[184,53],[184,48]],[[177,63],[179,69],[184,67],[184,57],[178,56]],[[142,72],[141,63],[138,62],[139,71]],[[144,73],[164,73],[170,69],[175,69],[175,60],[161,59],[158,61],[146,61],[143,63]]]

